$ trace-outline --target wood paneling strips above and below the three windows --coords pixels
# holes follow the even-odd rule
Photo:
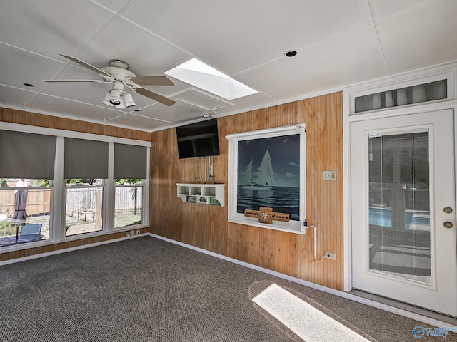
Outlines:
[[[79,121],[73,119],[56,118],[50,115],[29,113],[22,110],[13,110],[7,108],[0,108],[0,129],[1,122],[18,123],[21,125],[33,125],[45,128],[55,128],[59,130],[73,130],[82,133],[109,135],[117,138],[151,141],[151,133],[149,132],[130,130],[128,128],[118,128],[109,125],[99,125],[96,123],[88,123],[86,121]],[[149,228],[143,228],[140,230],[141,234],[143,234],[148,232]],[[42,247],[22,249],[16,252],[0,253],[0,261],[6,261],[20,257],[28,257],[34,254],[54,252],[59,249],[79,247],[84,246],[85,244],[94,244],[96,242],[104,242],[111,239],[119,239],[121,237],[125,237],[125,232],[116,232],[112,234],[105,234],[98,237],[90,238],[84,238],[84,235],[81,235],[81,239],[77,240],[59,242],[56,244],[48,244]]]

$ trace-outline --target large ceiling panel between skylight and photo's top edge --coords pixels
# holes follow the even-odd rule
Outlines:
[[[229,76],[372,23],[366,0],[156,1],[144,10],[149,6],[137,0],[122,15]]]

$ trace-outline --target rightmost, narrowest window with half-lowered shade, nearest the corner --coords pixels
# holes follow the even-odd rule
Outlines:
[[[114,227],[144,222],[144,181],[147,178],[147,147],[114,144]]]

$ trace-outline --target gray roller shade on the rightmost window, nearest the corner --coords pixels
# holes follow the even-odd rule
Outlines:
[[[114,178],[147,178],[147,152],[144,146],[114,144]]]

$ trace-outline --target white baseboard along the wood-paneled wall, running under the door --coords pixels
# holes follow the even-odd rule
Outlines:
[[[256,271],[261,271],[263,273],[270,274],[272,276],[277,276],[278,278],[281,278],[281,279],[286,279],[288,281],[293,281],[296,284],[301,284],[301,285],[304,285],[304,286],[311,287],[311,289],[317,289],[319,291],[323,291],[323,292],[326,292],[328,294],[334,294],[335,296],[340,296],[340,297],[343,297],[345,299],[349,299],[351,301],[356,301],[356,302],[361,303],[361,304],[365,304],[365,305],[368,305],[368,306],[373,306],[376,309],[381,309],[383,311],[388,311],[388,312],[391,312],[393,314],[397,314],[399,316],[403,316],[403,317],[406,317],[406,318],[411,318],[411,319],[414,319],[416,321],[421,321],[423,323],[430,324],[431,326],[446,327],[446,328],[457,328],[457,326],[452,326],[449,323],[446,323],[446,322],[443,322],[443,321],[439,321],[439,320],[436,320],[434,318],[423,316],[421,314],[416,314],[416,313],[411,312],[411,311],[399,309],[399,308],[396,308],[395,306],[390,306],[388,304],[379,303],[378,301],[373,301],[371,299],[365,299],[365,298],[363,298],[361,296],[356,296],[354,294],[349,294],[348,292],[338,291],[336,289],[331,289],[330,287],[322,286],[322,285],[319,285],[319,284],[314,284],[314,283],[311,283],[311,281],[306,281],[306,280],[303,280],[303,279],[298,279],[298,278],[296,278],[294,276],[288,276],[287,274],[282,274],[282,273],[279,273],[279,272],[276,272],[276,271],[271,271],[271,269],[265,269],[265,268],[260,267],[260,266],[256,266],[256,265],[253,265],[253,264],[248,264],[245,261],[233,259],[231,257],[226,257],[225,255],[217,254],[217,253],[214,253],[214,252],[211,252],[211,251],[207,251],[206,249],[195,247],[195,246],[192,246],[191,244],[184,244],[183,242],[179,242],[179,241],[176,241],[174,239],[169,239],[169,238],[166,238],[166,237],[161,237],[160,235],[156,235],[156,234],[152,234],[152,233],[146,233],[146,235],[149,235],[151,237],[155,237],[156,239],[164,240],[166,242],[171,242],[172,244],[178,244],[181,247],[186,247],[186,248],[189,248],[189,249],[193,249],[194,251],[197,251],[197,252],[201,252],[201,253],[204,253],[204,254],[211,255],[211,257],[216,257],[216,258],[219,258],[219,259],[230,261],[230,262],[233,262],[234,264],[238,264],[238,265],[241,265],[241,266],[248,267],[249,269],[255,269]],[[453,332],[457,333],[457,331],[453,331]]]

